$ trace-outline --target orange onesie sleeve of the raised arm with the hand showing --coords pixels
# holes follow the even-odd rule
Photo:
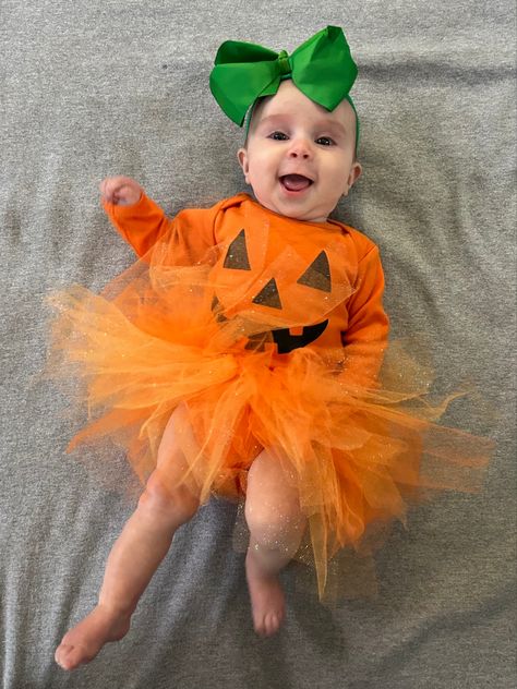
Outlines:
[[[139,257],[165,235],[178,255],[201,258],[214,246],[214,218],[216,207],[181,210],[173,219],[145,194],[131,206],[119,206],[103,202],[111,223],[122,238],[131,244]]]

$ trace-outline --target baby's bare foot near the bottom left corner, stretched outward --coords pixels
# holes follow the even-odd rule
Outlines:
[[[89,663],[105,643],[119,641],[128,633],[130,616],[97,605],[89,615],[68,631],[56,651],[56,662],[63,669]]]

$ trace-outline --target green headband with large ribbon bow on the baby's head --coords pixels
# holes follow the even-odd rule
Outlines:
[[[327,26],[297,48],[291,56],[250,43],[226,40],[217,51],[211,73],[211,90],[221,110],[239,126],[257,100],[273,96],[284,78],[326,110],[346,99],[356,113],[356,150],[359,118],[349,96],[358,68],[342,29]]]

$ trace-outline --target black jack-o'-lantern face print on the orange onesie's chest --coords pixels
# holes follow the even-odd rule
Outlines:
[[[342,244],[329,240],[294,249],[288,238],[240,228],[214,271],[213,310],[219,322],[235,316],[254,324],[251,344],[269,334],[284,354],[316,340],[327,314],[351,293]]]

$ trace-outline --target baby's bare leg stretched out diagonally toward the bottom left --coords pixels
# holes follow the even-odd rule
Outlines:
[[[158,450],[158,464],[108,557],[99,601],[93,612],[68,631],[56,651],[64,669],[88,663],[108,641],[118,641],[130,628],[140,596],[167,554],[178,527],[199,507],[193,481],[173,487],[187,469],[175,440],[175,419],[169,420]],[[183,433],[191,433],[183,427]],[[167,476],[167,480],[165,479]]]

